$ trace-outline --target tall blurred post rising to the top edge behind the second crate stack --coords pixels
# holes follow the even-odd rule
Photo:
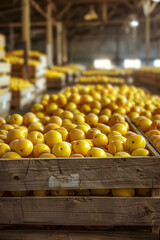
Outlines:
[[[52,2],[47,5],[47,65],[53,66],[53,28],[52,28]]]

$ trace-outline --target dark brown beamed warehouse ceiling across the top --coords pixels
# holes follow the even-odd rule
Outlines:
[[[69,35],[93,32],[93,28],[127,27],[131,14],[135,14],[142,26],[145,15],[143,4],[148,0],[30,0],[32,26],[46,25],[47,3],[53,3],[53,19],[61,21],[69,30]],[[84,16],[94,8],[96,20],[85,21]],[[160,3],[151,2],[151,21],[160,20]],[[0,1],[0,28],[21,26],[21,0]],[[111,27],[110,27],[111,26]],[[157,26],[158,27],[158,26]],[[157,32],[157,29],[154,28]],[[5,30],[5,29],[3,29]]]

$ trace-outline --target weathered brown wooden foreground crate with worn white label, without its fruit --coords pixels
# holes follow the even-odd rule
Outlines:
[[[131,129],[136,130],[136,127],[131,124]],[[116,240],[118,237],[123,240],[158,240],[160,156],[148,141],[147,146],[153,154],[151,157],[1,159],[0,191],[151,188],[152,197],[1,197],[0,224],[145,226],[153,228],[153,232],[139,233],[134,230],[133,234],[124,231],[98,232],[97,235],[96,233],[86,235],[89,233],[83,232],[71,235],[69,239]],[[8,231],[0,232],[3,240],[13,240],[16,237],[18,239],[19,236],[22,240],[36,237],[47,240],[48,235],[53,239],[62,239],[61,234],[56,231],[54,233],[16,231],[13,235]]]

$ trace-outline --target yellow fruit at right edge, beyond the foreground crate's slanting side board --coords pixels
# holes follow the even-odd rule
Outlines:
[[[138,117],[134,121],[160,150],[160,108],[155,109],[153,112],[146,111],[145,115]]]

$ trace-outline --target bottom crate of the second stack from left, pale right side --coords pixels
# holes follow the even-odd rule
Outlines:
[[[31,86],[20,91],[12,91],[11,106],[15,110],[28,109],[35,100],[35,87]]]

